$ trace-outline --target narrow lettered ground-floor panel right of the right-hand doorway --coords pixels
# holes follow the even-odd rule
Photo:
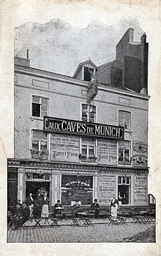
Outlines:
[[[135,175],[134,204],[146,205],[147,203],[147,175]]]

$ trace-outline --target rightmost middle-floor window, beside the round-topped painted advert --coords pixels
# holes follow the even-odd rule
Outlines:
[[[119,141],[119,165],[130,165],[131,143],[130,141]]]

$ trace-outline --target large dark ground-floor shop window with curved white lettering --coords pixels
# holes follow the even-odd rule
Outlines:
[[[81,175],[62,175],[61,203],[71,205],[78,200],[81,205],[91,205],[93,200],[93,177]]]

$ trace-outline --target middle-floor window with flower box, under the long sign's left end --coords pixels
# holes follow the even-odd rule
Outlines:
[[[48,159],[47,133],[42,130],[31,131],[31,158]]]

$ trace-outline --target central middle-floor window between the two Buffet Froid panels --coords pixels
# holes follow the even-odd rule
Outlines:
[[[94,138],[81,138],[81,162],[96,163],[96,141]]]

